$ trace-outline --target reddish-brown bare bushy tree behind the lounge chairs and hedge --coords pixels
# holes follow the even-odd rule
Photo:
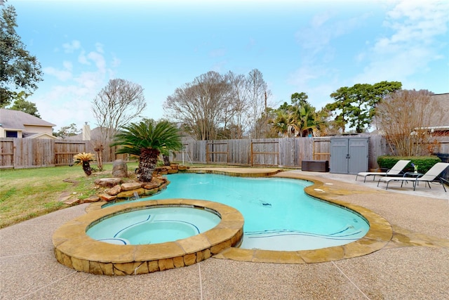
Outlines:
[[[428,155],[429,126],[437,107],[427,90],[400,90],[377,105],[376,122],[395,155]]]

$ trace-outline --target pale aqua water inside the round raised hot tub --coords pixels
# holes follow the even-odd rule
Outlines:
[[[86,234],[111,244],[157,244],[203,233],[220,221],[220,216],[204,209],[154,207],[110,216]]]

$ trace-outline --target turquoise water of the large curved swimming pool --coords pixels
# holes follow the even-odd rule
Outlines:
[[[243,249],[321,249],[353,242],[369,230],[354,211],[304,193],[309,181],[217,174],[172,174],[168,180],[166,190],[133,201],[185,198],[234,207],[245,219]]]

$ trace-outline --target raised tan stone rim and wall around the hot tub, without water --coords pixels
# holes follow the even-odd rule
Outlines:
[[[53,234],[56,259],[69,268],[102,275],[137,275],[198,263],[224,249],[239,246],[243,216],[233,207],[204,200],[149,200],[100,209],[91,204],[88,214],[65,223]],[[94,240],[86,234],[93,223],[126,211],[150,207],[193,207],[220,216],[214,228],[199,235],[159,244],[120,245]]]

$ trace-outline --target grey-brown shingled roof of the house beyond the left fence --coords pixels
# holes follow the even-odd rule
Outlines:
[[[4,129],[14,129],[17,131],[25,130],[25,125],[30,126],[56,126],[50,122],[46,122],[43,119],[29,115],[26,112],[20,110],[7,110],[6,108],[0,108],[0,126]]]

